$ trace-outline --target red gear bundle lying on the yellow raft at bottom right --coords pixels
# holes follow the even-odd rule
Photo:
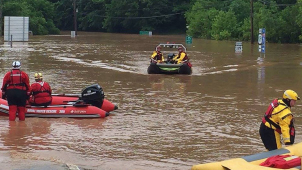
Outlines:
[[[300,166],[301,157],[289,154],[275,155],[268,157],[264,162],[260,163],[260,165],[280,169],[289,169],[291,167]]]

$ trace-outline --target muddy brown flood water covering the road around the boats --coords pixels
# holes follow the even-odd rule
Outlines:
[[[185,35],[70,32],[30,36],[0,45],[0,77],[20,60],[34,82],[39,71],[53,93],[103,87],[118,109],[103,119],[0,116],[0,162],[6,169],[30,160],[71,163],[89,169],[190,169],[192,165],[265,151],[261,117],[285,89],[302,95],[302,46],[193,39]],[[147,74],[149,57],[162,42],[182,43],[191,75]],[[162,48],[177,53],[175,48]],[[2,80],[1,80],[2,84]],[[302,141],[302,102],[292,108],[295,142]],[[4,165],[3,165],[4,164]]]

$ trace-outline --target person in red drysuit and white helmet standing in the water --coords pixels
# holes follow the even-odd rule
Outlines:
[[[2,83],[2,98],[7,98],[9,121],[14,121],[16,112],[19,120],[25,120],[26,98],[29,96],[29,77],[20,70],[20,61],[12,62],[12,70],[6,72]]]

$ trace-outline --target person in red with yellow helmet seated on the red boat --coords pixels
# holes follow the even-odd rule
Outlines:
[[[43,81],[42,73],[34,73],[35,82],[30,85],[31,96],[28,100],[30,105],[33,106],[46,106],[50,105],[52,101],[50,85]]]

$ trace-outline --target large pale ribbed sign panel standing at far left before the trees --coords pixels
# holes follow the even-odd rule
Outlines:
[[[4,16],[4,41],[28,41],[28,16]]]

